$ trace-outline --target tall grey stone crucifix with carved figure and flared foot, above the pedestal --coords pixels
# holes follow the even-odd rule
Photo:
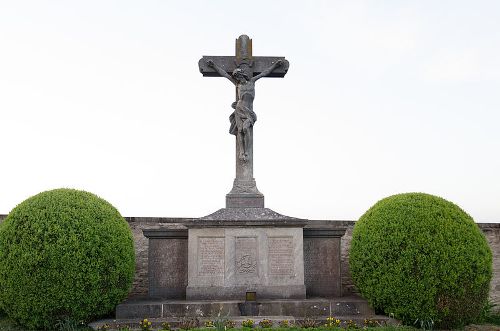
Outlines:
[[[225,77],[236,87],[236,101],[229,117],[229,133],[236,136],[236,178],[226,195],[226,208],[264,208],[264,195],[253,178],[253,111],[255,82],[263,77],[284,77],[289,63],[284,57],[252,55],[252,39],[236,39],[235,56],[203,56],[198,62],[204,77]]]

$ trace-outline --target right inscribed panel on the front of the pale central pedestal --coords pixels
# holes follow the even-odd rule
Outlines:
[[[269,237],[269,274],[293,276],[294,256],[292,237]]]

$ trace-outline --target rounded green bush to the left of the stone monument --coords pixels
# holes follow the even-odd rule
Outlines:
[[[105,200],[57,189],[15,207],[0,225],[0,308],[29,328],[109,313],[135,269],[128,224]]]

